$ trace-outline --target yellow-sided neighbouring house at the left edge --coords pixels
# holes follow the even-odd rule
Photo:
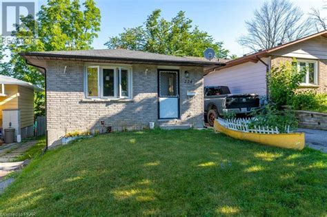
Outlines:
[[[34,91],[42,88],[0,75],[0,129],[11,127],[21,138],[34,136]]]

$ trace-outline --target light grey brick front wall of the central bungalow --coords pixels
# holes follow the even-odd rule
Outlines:
[[[95,63],[95,65],[97,65]],[[64,73],[65,66],[66,72]],[[142,129],[149,121],[158,123],[157,65],[132,65],[132,102],[85,102],[83,92],[83,63],[48,61],[47,63],[47,123],[48,144],[61,142],[61,137],[74,130],[101,130],[101,121],[112,130]],[[148,69],[148,72],[146,72]],[[185,71],[192,83],[185,83]],[[203,126],[203,68],[180,68],[179,123]],[[188,99],[187,91],[197,96]]]

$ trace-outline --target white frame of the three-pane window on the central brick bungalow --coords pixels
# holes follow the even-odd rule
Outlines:
[[[88,96],[88,68],[98,68],[98,96]],[[114,70],[115,96],[103,96],[103,69]],[[128,96],[121,96],[121,70],[128,71]],[[84,93],[87,99],[132,99],[132,68],[117,65],[87,65],[84,73]]]

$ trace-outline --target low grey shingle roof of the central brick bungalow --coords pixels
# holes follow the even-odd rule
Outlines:
[[[221,65],[216,60],[208,61],[204,58],[190,56],[170,56],[164,54],[155,54],[150,52],[141,52],[125,49],[104,49],[104,50],[71,50],[71,51],[48,51],[48,52],[22,52],[21,56],[48,56],[60,58],[89,58],[89,59],[113,59],[126,61],[153,61],[153,62],[179,62],[194,63],[199,65]]]

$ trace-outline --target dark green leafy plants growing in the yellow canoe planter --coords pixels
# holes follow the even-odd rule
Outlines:
[[[278,128],[279,132],[286,132],[285,127],[290,126],[290,130],[297,128],[297,118],[293,110],[277,110],[277,107],[273,105],[267,105],[261,110],[257,110],[252,113],[253,121],[249,123],[249,127],[254,126],[261,127],[275,127]]]

